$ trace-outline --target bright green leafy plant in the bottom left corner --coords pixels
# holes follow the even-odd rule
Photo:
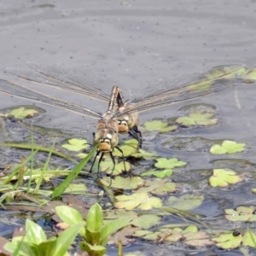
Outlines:
[[[15,253],[19,247],[17,255],[23,256],[65,256],[80,229],[81,223],[78,223],[61,232],[58,237],[52,236],[47,239],[44,230],[38,224],[26,219],[26,236],[14,237],[4,248],[10,253]]]

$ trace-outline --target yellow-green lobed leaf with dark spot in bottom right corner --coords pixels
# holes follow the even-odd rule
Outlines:
[[[236,232],[228,232],[226,234],[218,235],[218,237],[212,238],[212,241],[215,241],[216,246],[223,249],[234,249],[237,247],[246,246],[246,247],[254,247],[254,242],[256,239],[256,235],[249,231],[245,233]],[[253,237],[253,239],[252,239]]]

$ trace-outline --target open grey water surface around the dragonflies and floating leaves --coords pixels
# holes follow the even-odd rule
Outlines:
[[[15,80],[3,73],[4,68],[25,67],[26,61],[61,63],[63,67],[113,78],[136,94],[143,85],[158,79],[183,76],[218,65],[244,63],[253,67],[256,63],[255,12],[256,1],[247,0],[5,1],[0,3],[0,78]],[[184,129],[171,136],[233,139],[247,143],[247,151],[234,158],[255,162],[255,97],[255,85],[237,84],[224,92],[196,100],[193,103],[216,106],[220,124],[207,129]],[[0,94],[0,108],[28,103]],[[188,103],[165,112],[143,114],[142,119],[177,116],[178,108],[185,104]],[[38,125],[88,135],[94,130],[93,119],[37,105],[47,110],[38,119]],[[102,108],[105,107],[102,105]],[[160,139],[163,143],[167,138]],[[191,169],[211,168],[210,161],[219,158],[196,150],[156,148],[165,156],[185,157]],[[248,189],[251,187],[253,183],[244,181],[236,188],[236,193],[226,193],[223,207],[253,201]],[[220,198],[223,192],[218,193]],[[206,207],[211,200],[209,193]],[[214,207],[216,205],[218,202]],[[214,208],[209,216],[220,214],[223,207]],[[202,208],[201,212],[206,209]],[[152,250],[148,245],[141,247]],[[172,250],[161,247],[163,252]],[[195,255],[208,255],[204,253]]]

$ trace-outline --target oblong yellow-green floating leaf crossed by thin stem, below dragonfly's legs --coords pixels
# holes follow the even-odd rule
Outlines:
[[[101,183],[105,186],[108,186],[110,183],[110,177],[104,177],[101,179]],[[141,177],[120,177],[117,176],[111,180],[111,188],[115,189],[137,189],[143,184],[145,181]]]

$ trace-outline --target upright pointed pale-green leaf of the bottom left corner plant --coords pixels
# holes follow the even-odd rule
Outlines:
[[[26,238],[27,241],[34,244],[39,244],[46,241],[44,230],[32,220],[26,218]]]

